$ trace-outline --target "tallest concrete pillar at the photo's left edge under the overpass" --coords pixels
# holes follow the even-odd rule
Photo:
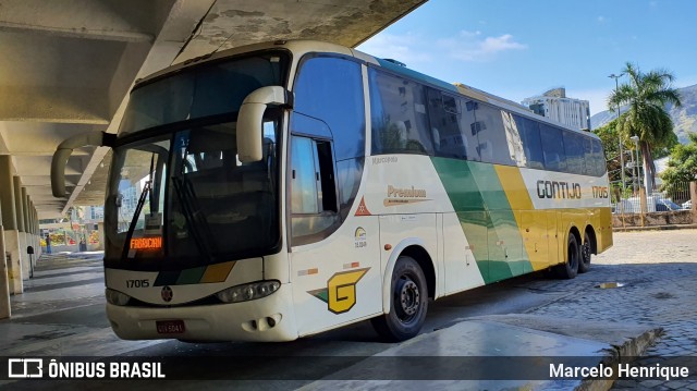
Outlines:
[[[10,270],[10,293],[23,292],[22,252],[20,251],[20,231],[14,203],[14,179],[12,160],[9,155],[0,155],[0,207],[4,228],[4,256]]]

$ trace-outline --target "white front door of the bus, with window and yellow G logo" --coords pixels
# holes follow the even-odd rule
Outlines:
[[[291,283],[301,337],[382,310],[377,217],[342,221],[333,145],[291,136]]]

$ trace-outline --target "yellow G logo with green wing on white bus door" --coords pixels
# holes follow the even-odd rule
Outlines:
[[[327,288],[307,293],[327,303],[327,307],[334,314],[347,313],[356,305],[356,283],[370,268],[342,271],[327,281]]]

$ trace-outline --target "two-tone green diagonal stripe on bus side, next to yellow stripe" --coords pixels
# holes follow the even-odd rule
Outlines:
[[[533,271],[501,181],[489,163],[431,158],[486,283]]]

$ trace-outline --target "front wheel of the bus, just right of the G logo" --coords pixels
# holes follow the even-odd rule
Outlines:
[[[392,271],[390,313],[370,319],[386,341],[416,337],[428,309],[428,286],[421,267],[412,257],[400,256]]]

